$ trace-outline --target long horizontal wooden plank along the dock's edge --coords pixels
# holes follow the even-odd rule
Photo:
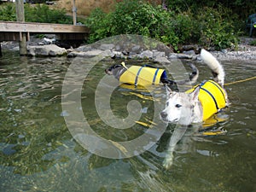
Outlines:
[[[84,33],[89,32],[89,29],[86,26],[2,21],[0,22],[0,32]]]

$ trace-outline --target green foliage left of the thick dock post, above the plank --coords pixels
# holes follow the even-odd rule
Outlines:
[[[16,20],[15,3],[6,3],[0,7],[0,20]]]

